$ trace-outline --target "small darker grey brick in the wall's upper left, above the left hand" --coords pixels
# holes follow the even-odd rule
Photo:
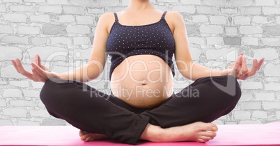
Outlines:
[[[65,26],[54,25],[54,24],[44,24],[42,26],[42,33],[45,35],[58,35],[65,32]]]

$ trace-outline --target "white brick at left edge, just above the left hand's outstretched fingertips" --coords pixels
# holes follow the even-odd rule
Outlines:
[[[22,58],[22,49],[17,47],[0,46],[0,61]]]

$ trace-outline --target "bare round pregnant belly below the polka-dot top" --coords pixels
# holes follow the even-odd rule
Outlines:
[[[134,107],[157,106],[173,94],[173,75],[169,65],[160,57],[130,56],[115,68],[111,91]]]

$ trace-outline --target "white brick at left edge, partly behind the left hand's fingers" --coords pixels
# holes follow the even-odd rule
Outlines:
[[[31,70],[30,65],[23,65],[25,70]],[[7,67],[1,67],[1,78],[8,79],[26,79],[25,76],[19,74],[13,65],[9,65]]]

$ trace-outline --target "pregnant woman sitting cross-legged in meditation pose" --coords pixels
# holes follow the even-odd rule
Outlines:
[[[98,78],[108,55],[110,95],[84,83]],[[242,54],[227,70],[196,64],[179,13],[157,10],[149,0],[130,0],[125,10],[100,17],[86,65],[56,74],[38,55],[32,72],[19,59],[12,62],[28,79],[45,82],[40,99],[47,111],[80,129],[81,140],[111,138],[134,145],[139,139],[203,143],[215,138],[217,126],[210,122],[231,112],[240,99],[236,79],[256,74],[263,59],[254,60],[251,69]],[[194,80],[178,93],[173,92],[175,64]]]

